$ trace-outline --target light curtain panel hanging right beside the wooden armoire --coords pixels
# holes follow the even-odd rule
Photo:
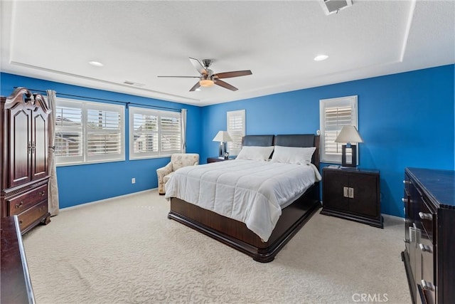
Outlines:
[[[58,214],[58,185],[57,169],[55,168],[55,91],[46,90],[48,95],[48,106],[52,112],[49,115],[49,148],[48,148],[48,172],[50,174],[48,184],[48,209],[50,216]]]

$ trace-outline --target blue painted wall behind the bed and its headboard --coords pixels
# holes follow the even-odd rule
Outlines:
[[[212,139],[226,129],[227,111],[245,109],[249,135],[315,133],[320,99],[358,95],[360,167],[380,169],[382,213],[403,216],[405,167],[455,169],[454,69],[444,65],[204,107],[201,158],[218,154]]]

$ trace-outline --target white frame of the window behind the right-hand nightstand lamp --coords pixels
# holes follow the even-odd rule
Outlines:
[[[336,154],[327,154],[326,153],[326,123],[325,123],[326,115],[325,114],[326,114],[326,108],[337,108],[337,107],[343,107],[343,106],[348,106],[348,105],[350,105],[350,107],[351,107],[350,125],[355,126],[358,130],[358,98],[357,98],[357,95],[319,100],[319,122],[320,122],[320,128],[321,128],[321,139],[320,139],[321,143],[320,143],[319,150],[321,152],[321,162],[341,164],[341,144],[338,144],[340,146],[339,153],[336,153]],[[338,132],[339,132],[341,130],[341,127],[342,126],[335,127],[335,128],[333,128],[333,130],[338,130]],[[357,149],[356,163],[358,164],[358,145],[357,145],[356,149]]]

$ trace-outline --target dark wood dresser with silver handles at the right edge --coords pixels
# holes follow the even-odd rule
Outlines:
[[[455,303],[455,172],[405,169],[405,263],[413,303]]]

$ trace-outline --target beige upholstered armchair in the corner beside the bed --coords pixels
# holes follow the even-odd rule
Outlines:
[[[199,164],[199,154],[197,153],[176,153],[171,155],[171,162],[166,164],[165,167],[156,169],[158,174],[158,193],[160,195],[166,194],[164,185],[171,178],[173,172],[177,169],[186,166],[194,166]]]

